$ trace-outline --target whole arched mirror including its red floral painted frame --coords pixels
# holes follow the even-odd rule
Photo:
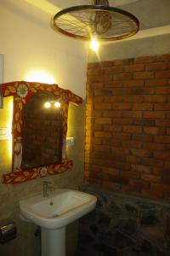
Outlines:
[[[2,84],[2,91],[14,97],[13,170],[3,175],[3,183],[23,183],[71,168],[72,160],[66,159],[68,108],[70,102],[81,104],[82,98],[57,84],[26,81]]]

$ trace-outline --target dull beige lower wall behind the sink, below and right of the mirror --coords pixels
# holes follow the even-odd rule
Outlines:
[[[11,218],[17,224],[17,238],[6,244],[0,244],[1,256],[39,256],[40,237],[34,236],[37,226],[20,220],[19,201],[31,195],[42,193],[42,182],[53,183],[54,189],[77,189],[83,180],[84,168],[84,103],[82,106],[70,105],[68,117],[68,137],[75,138],[74,146],[67,148],[68,159],[73,160],[73,167],[67,172],[55,176],[42,177],[17,185],[0,184],[0,221]],[[77,224],[67,229],[67,255],[72,255],[77,247]]]

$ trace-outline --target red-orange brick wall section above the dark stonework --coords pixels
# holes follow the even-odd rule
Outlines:
[[[170,198],[170,55],[88,63],[85,180]]]

